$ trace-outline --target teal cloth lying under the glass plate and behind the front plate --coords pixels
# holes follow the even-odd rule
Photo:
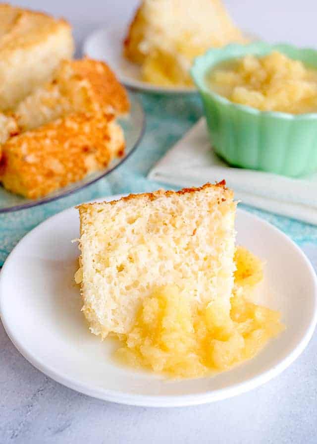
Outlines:
[[[65,208],[98,197],[153,191],[164,186],[148,180],[147,173],[202,115],[201,102],[196,94],[184,96],[139,94],[139,98],[147,115],[147,127],[135,153],[104,179],[71,196],[28,210],[0,215],[0,265],[28,231]],[[277,226],[299,245],[304,243],[317,245],[317,226],[242,204],[240,206]]]

